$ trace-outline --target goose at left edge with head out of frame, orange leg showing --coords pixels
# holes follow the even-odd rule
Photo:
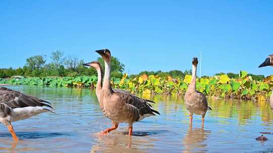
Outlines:
[[[0,87],[0,122],[8,126],[15,141],[18,141],[18,138],[11,122],[27,119],[44,112],[54,113],[49,102]]]

